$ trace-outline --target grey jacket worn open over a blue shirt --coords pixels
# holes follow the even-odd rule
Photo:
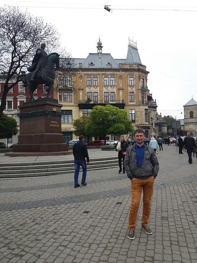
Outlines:
[[[144,145],[144,158],[141,167],[137,166],[135,144],[127,148],[124,166],[127,176],[131,180],[133,178],[146,179],[151,176],[156,178],[159,171],[159,162],[155,151],[147,145]]]

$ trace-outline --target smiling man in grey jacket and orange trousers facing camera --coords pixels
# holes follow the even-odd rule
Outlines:
[[[135,224],[139,208],[141,192],[143,189],[143,213],[142,229],[146,234],[151,235],[153,232],[148,227],[151,200],[153,194],[154,180],[159,171],[159,163],[155,151],[144,145],[145,133],[141,129],[134,132],[136,144],[127,149],[125,156],[125,170],[131,180],[131,207],[129,215],[129,239],[135,239]]]

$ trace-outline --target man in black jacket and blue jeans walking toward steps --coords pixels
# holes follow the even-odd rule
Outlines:
[[[79,168],[80,166],[83,169],[83,174],[82,174],[82,180],[81,180],[81,185],[86,186],[86,174],[87,174],[87,166],[86,166],[86,159],[87,159],[87,164],[90,164],[90,159],[88,156],[88,150],[87,146],[84,143],[85,138],[83,135],[79,136],[79,142],[73,145],[73,155],[74,155],[74,188],[80,187],[78,184],[78,177],[79,177]],[[86,159],[85,159],[86,158]]]

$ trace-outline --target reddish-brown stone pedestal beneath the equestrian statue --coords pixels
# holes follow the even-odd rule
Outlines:
[[[18,144],[13,145],[13,153],[9,155],[68,154],[68,145],[63,144],[61,132],[61,107],[58,100],[51,98],[41,98],[19,106],[20,135]]]

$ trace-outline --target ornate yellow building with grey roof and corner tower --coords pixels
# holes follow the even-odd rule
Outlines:
[[[144,129],[146,137],[151,135],[157,105],[147,88],[149,72],[141,63],[135,42],[129,40],[126,59],[114,59],[110,53],[102,53],[99,40],[97,53],[74,61],[76,74],[59,76],[54,85],[54,98],[63,104],[64,142],[76,139],[74,119],[88,115],[96,105],[106,104],[125,109],[134,128]],[[132,138],[132,134],[128,136]],[[113,135],[111,137],[114,139]]]

